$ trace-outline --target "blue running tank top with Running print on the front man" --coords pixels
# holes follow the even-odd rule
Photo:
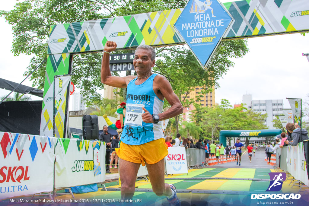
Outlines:
[[[129,82],[127,87],[126,104],[142,104],[150,114],[162,112],[163,101],[157,97],[153,90],[153,80],[157,74],[152,74],[145,82],[136,85],[137,78]],[[127,111],[129,108],[127,106]],[[146,142],[164,138],[161,129],[161,121],[158,124],[142,122],[142,126],[126,125],[127,113],[124,129],[121,134],[121,141],[127,145],[141,145]]]

